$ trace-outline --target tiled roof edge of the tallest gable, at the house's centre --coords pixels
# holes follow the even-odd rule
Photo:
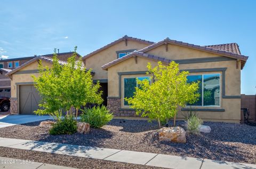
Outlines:
[[[96,54],[96,53],[98,53],[98,52],[100,52],[100,51],[103,51],[103,50],[107,49],[108,47],[113,46],[113,45],[115,45],[115,44],[117,44],[117,43],[119,43],[119,42],[122,42],[122,41],[124,41],[124,40],[129,40],[129,41],[134,41],[134,42],[145,43],[145,44],[148,44],[148,45],[154,44],[154,42],[150,42],[150,41],[146,41],[146,40],[144,40],[144,39],[134,38],[134,37],[125,35],[125,36],[123,36],[123,37],[117,39],[116,41],[111,42],[110,44],[107,44],[106,46],[103,46],[103,47],[101,47],[100,49],[98,49],[98,50],[96,50],[96,51],[93,51],[93,52],[91,52],[91,53],[85,55],[82,59],[89,58],[89,57],[91,57],[92,55],[94,55],[94,54]]]

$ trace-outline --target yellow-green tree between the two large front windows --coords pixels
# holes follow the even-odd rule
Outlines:
[[[194,103],[199,97],[198,83],[187,83],[188,71],[179,70],[179,64],[172,61],[169,66],[162,65],[151,67],[148,63],[148,72],[151,74],[151,83],[144,79],[138,81],[132,98],[125,98],[131,108],[136,109],[136,114],[142,117],[156,119],[161,127],[161,120],[168,121],[174,118],[178,107],[186,106],[186,103]]]

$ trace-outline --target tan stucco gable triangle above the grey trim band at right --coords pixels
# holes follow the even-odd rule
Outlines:
[[[221,55],[213,54],[209,52],[203,52],[188,47],[179,45],[168,44],[168,51],[166,52],[165,45],[161,45],[148,52],[149,54],[157,55],[159,57],[179,60],[179,59],[195,59],[195,58],[207,58],[207,57],[220,57]]]

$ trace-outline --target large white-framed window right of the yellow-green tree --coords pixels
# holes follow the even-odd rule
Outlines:
[[[199,100],[189,106],[220,106],[220,74],[189,75],[188,82],[198,82]]]

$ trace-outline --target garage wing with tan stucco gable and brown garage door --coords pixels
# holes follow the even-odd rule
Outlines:
[[[58,53],[61,65],[66,64],[68,58],[74,52]],[[38,75],[38,61],[42,60],[44,66],[52,66],[53,54],[33,57],[17,68],[9,71],[5,75],[11,79],[11,114],[33,114],[38,109],[39,100],[41,100],[38,91],[33,85],[31,75]],[[81,55],[77,54],[77,59]]]

